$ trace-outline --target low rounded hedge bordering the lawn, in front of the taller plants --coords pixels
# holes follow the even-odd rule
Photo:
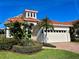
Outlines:
[[[33,53],[41,49],[42,49],[42,44],[40,43],[35,43],[34,45],[31,45],[31,46],[14,45],[12,48],[13,51],[19,52],[19,53]]]

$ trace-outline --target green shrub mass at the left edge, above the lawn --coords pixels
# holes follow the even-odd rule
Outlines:
[[[0,50],[8,50],[11,49],[15,44],[15,40],[11,38],[5,38],[5,35],[0,35]]]

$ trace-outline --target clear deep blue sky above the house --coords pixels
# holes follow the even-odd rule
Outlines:
[[[70,22],[79,19],[79,0],[0,0],[0,28],[8,18],[17,16],[24,9],[38,11],[38,19]]]

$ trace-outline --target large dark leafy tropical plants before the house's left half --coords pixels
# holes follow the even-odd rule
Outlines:
[[[30,45],[31,31],[29,29],[29,24],[27,22],[16,21],[14,23],[7,23],[5,25],[10,28],[11,35],[16,39],[17,44],[23,46]]]

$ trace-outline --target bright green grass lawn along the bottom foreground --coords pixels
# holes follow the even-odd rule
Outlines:
[[[79,54],[58,49],[44,49],[31,55],[0,51],[0,59],[79,59]]]

